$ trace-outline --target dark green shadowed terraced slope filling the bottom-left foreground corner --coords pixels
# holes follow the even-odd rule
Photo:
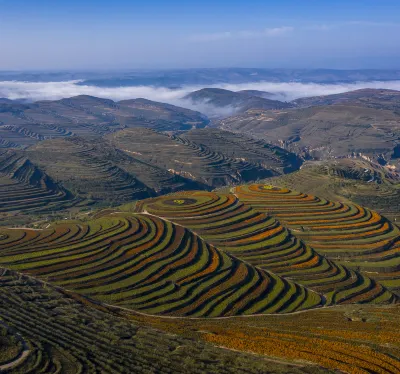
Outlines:
[[[0,291],[0,371],[5,373],[330,372],[268,362],[165,333],[5,269]]]

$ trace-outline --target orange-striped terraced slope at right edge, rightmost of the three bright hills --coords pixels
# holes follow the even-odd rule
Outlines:
[[[375,211],[270,185],[234,189],[239,199],[293,229],[318,252],[400,289],[400,231]]]

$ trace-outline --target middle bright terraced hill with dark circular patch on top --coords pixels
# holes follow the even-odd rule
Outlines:
[[[190,228],[246,263],[323,294],[327,305],[397,300],[379,282],[327,259],[233,194],[175,193],[140,201],[136,209]]]

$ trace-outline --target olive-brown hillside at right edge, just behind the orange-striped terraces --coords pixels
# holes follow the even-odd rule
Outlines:
[[[356,203],[400,220],[400,174],[364,159],[307,161],[300,170],[264,181],[328,200]]]

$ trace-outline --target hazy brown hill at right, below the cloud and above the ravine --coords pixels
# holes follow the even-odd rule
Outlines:
[[[396,110],[350,104],[300,109],[248,110],[219,121],[224,130],[246,133],[304,157],[364,155],[398,163],[400,115]]]

